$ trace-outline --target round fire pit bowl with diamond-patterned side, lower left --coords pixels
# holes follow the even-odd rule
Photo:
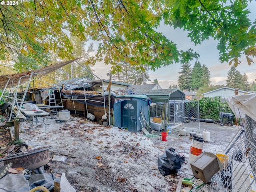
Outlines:
[[[1,158],[4,165],[12,163],[13,168],[24,167],[28,170],[35,170],[41,166],[46,165],[50,160],[49,149],[50,147],[32,148],[26,152],[20,152]]]

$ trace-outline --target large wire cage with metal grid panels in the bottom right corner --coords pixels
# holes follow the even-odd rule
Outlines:
[[[209,191],[256,191],[256,122],[247,115],[245,120],[244,130],[238,131],[225,154],[218,157],[222,169],[212,177]]]

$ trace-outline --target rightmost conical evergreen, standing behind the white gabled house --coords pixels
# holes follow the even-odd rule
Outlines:
[[[244,77],[242,74],[236,69],[235,66],[231,66],[228,71],[228,76],[226,80],[226,86],[246,90],[246,84],[244,82]]]

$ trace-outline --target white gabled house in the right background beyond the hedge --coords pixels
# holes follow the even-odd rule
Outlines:
[[[226,100],[226,98],[237,95],[236,94],[236,90],[238,91],[238,95],[242,95],[242,94],[246,94],[246,93],[252,93],[250,91],[244,91],[244,90],[240,90],[240,89],[234,89],[231,87],[222,87],[222,88],[218,88],[206,93],[203,93],[202,95],[204,97],[215,97],[215,96],[219,96],[220,98],[222,98],[223,100]]]

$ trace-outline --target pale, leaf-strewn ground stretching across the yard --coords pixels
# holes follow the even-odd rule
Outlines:
[[[117,127],[102,126],[84,118],[73,117],[63,123],[47,118],[47,132],[40,124],[32,126],[21,122],[20,139],[30,147],[52,146],[48,172],[62,173],[77,192],[169,192],[176,191],[180,178],[192,178],[188,167],[191,146],[190,132],[204,129],[210,132],[210,142],[204,142],[203,151],[223,152],[240,127],[220,126],[206,122],[190,122],[172,126],[167,141],[161,132],[145,136]],[[58,117],[57,117],[58,119]],[[180,136],[181,128],[186,136]],[[185,156],[186,161],[176,174],[162,176],[158,170],[158,157],[166,148]],[[66,157],[55,161],[55,156]],[[195,185],[203,182],[194,178]],[[182,185],[182,188],[186,186]],[[207,192],[210,185],[204,184],[198,192]]]

